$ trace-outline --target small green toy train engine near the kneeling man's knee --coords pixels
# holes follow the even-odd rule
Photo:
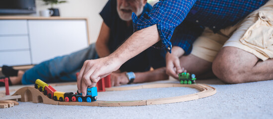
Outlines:
[[[180,80],[180,84],[194,84],[195,83],[195,75],[194,74],[189,74],[186,72],[183,73],[179,73],[179,80]]]

